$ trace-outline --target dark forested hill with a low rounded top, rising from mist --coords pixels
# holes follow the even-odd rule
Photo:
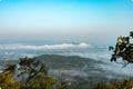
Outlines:
[[[50,69],[73,69],[73,68],[94,68],[94,63],[103,63],[89,58],[82,58],[80,56],[58,56],[58,55],[42,55],[35,57],[35,59],[45,62]]]

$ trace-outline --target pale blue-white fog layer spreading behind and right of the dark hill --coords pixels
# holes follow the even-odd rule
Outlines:
[[[99,68],[111,73],[133,77],[133,66],[122,67],[111,62],[111,51],[108,46],[94,46],[89,42],[0,42],[0,60],[18,60],[21,57],[37,57],[41,55],[80,56],[99,60]]]

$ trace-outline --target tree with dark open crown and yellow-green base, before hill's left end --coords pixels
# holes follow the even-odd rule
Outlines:
[[[24,78],[22,82],[24,89],[52,89],[55,85],[55,79],[48,76],[48,67],[35,58],[20,58],[17,70],[18,78],[22,76]]]

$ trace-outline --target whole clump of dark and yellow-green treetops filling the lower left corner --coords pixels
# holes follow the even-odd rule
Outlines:
[[[19,71],[18,78],[27,75],[25,82],[13,79]],[[2,89],[66,89],[64,85],[59,88],[53,77],[48,76],[48,67],[35,58],[20,58],[19,65],[7,63],[0,73],[0,88]]]

